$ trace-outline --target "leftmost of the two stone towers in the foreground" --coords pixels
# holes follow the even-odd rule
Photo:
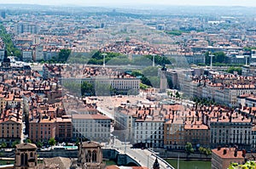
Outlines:
[[[38,169],[38,154],[35,144],[16,145],[15,169]]]

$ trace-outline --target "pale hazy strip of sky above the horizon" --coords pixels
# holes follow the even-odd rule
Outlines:
[[[32,4],[73,4],[73,5],[214,5],[214,6],[256,6],[256,0],[0,0],[0,3],[32,3]]]

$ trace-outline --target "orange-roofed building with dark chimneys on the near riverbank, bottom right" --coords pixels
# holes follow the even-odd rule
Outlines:
[[[245,153],[236,148],[212,149],[212,169],[227,169],[230,163],[243,164]]]

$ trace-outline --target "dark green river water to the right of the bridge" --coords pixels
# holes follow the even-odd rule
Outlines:
[[[174,168],[177,168],[177,160],[166,160]],[[179,169],[211,169],[211,161],[179,161]]]

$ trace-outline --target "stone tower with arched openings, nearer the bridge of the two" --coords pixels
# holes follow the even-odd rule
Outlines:
[[[96,142],[83,142],[79,144],[78,165],[82,169],[101,169],[102,146]]]

